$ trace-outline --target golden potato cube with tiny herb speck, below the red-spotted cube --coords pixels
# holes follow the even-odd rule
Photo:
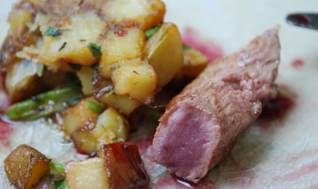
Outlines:
[[[151,104],[157,87],[157,74],[147,61],[124,59],[109,67],[116,94],[129,94],[143,104]]]

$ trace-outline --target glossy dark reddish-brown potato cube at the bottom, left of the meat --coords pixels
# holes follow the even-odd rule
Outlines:
[[[115,142],[101,145],[99,157],[104,159],[112,189],[140,189],[149,182],[136,144]]]

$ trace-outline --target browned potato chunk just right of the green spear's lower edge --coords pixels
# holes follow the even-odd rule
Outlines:
[[[55,120],[67,136],[80,128],[94,127],[99,113],[89,109],[88,103],[90,100],[95,101],[93,97],[87,97],[75,106],[56,113]]]

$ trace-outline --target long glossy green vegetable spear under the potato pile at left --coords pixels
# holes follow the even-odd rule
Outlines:
[[[57,89],[13,104],[4,115],[11,120],[36,120],[73,106],[81,98],[83,94],[78,89]]]

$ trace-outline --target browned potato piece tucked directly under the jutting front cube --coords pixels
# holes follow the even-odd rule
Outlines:
[[[118,95],[114,93],[114,86],[110,79],[105,79],[98,74],[95,74],[93,81],[93,95],[95,99],[106,104],[109,107],[116,108],[119,112],[130,115],[140,102],[133,100],[126,95]]]

